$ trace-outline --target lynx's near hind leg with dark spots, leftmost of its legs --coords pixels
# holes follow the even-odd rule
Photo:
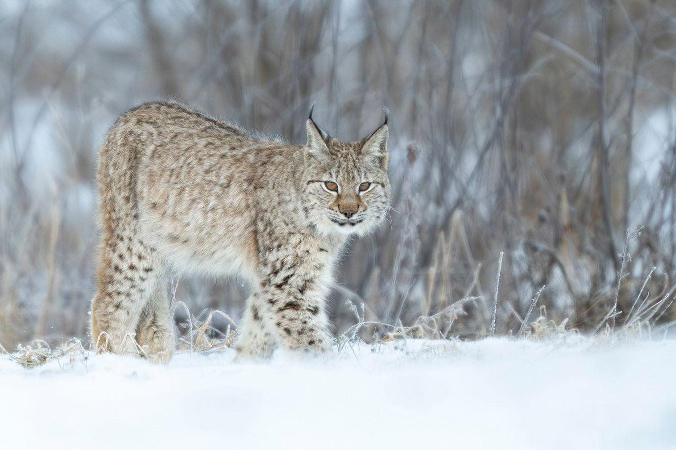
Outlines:
[[[157,284],[159,267],[151,251],[131,233],[104,238],[91,305],[91,337],[97,352],[139,354],[137,324]]]

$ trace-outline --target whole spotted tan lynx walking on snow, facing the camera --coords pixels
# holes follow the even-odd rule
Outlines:
[[[291,145],[178,103],[118,118],[99,149],[99,351],[170,359],[172,273],[249,281],[241,357],[330,348],[324,299],[335,261],[389,205],[387,119],[351,143],[322,131],[312,111],[306,130],[306,145]]]

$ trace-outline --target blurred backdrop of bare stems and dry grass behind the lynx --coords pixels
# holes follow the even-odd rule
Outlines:
[[[0,343],[87,339],[97,147],[166,98],[293,143],[313,101],[342,140],[389,107],[393,209],[341,261],[337,334],[667,330],[675,40],[670,0],[4,0]],[[235,322],[246,296],[168,289]]]

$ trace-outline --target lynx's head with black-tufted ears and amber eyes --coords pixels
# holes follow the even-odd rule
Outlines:
[[[310,118],[304,147],[304,206],[322,234],[358,234],[375,229],[389,208],[387,116],[368,137],[343,143]]]

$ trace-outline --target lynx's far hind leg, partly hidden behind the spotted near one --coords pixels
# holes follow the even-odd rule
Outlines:
[[[166,363],[174,354],[176,347],[174,322],[166,285],[162,279],[155,282],[155,289],[141,311],[136,328],[136,341],[141,347],[141,355],[152,361]]]

